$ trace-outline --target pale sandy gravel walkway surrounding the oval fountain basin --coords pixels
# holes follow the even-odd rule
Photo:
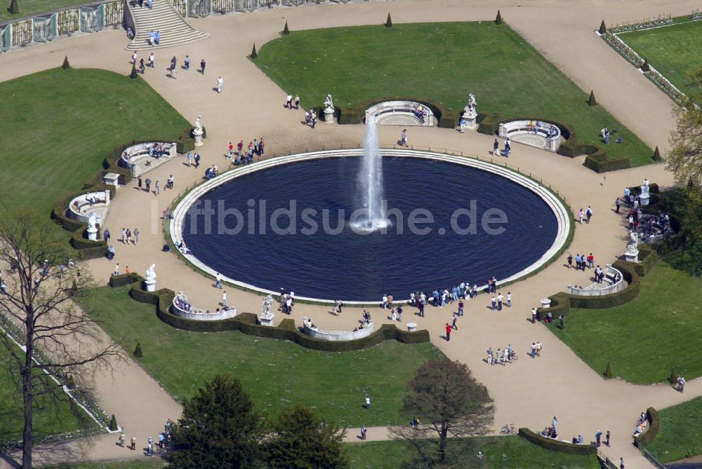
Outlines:
[[[470,8],[466,8],[467,4]],[[668,132],[673,126],[668,114],[671,107],[668,98],[592,34],[592,29],[603,17],[612,21],[633,20],[655,16],[671,8],[675,9],[675,14],[689,13],[696,6],[694,2],[670,4],[669,1],[656,0],[645,5],[636,4],[636,8],[631,8],[629,2],[608,4],[605,8],[596,0],[564,6],[533,2],[518,8],[518,4],[516,0],[509,0],[501,10],[519,34],[585,91],[594,88],[598,102],[637,132],[644,142],[652,147],[656,144],[665,147],[664,142],[667,142]],[[343,15],[338,14],[339,8],[344,9]],[[477,0],[437,0],[431,5],[409,0],[392,4],[289,8],[195,20],[195,26],[210,32],[211,39],[157,53],[157,68],[147,70],[145,78],[188,120],[194,120],[198,114],[203,116],[209,138],[201,149],[204,156],[202,170],[211,164],[223,167],[222,154],[230,140],[246,141],[263,135],[269,153],[305,147],[336,147],[340,143],[357,144],[362,142],[364,128],[361,126],[320,124],[317,129],[310,130],[299,123],[301,111],[294,113],[283,109],[284,90],[274,86],[246,59],[253,41],[260,44],[276,36],[282,28],[281,16],[289,20],[291,27],[301,29],[375,24],[385,18],[388,10],[395,22],[455,18],[488,20],[494,18],[495,9],[493,4]],[[104,67],[126,73],[131,66],[128,54],[122,50],[125,43],[122,32],[101,32],[13,51],[0,59],[4,65],[3,79],[54,67],[58,64],[55,62],[60,62],[57,57],[65,53],[77,67]],[[223,44],[227,47],[222,47]],[[182,60],[186,53],[194,60],[197,60],[195,57],[206,57],[206,76],[191,69],[179,73],[177,80],[167,78],[168,56],[177,55]],[[601,73],[602,70],[608,73]],[[219,75],[225,78],[221,95],[211,90]],[[290,91],[294,93],[294,90]],[[302,100],[305,104],[304,96]],[[397,128],[381,128],[380,141],[384,144],[395,142],[397,131]],[[482,156],[487,156],[492,142],[486,135],[459,135],[446,129],[411,129],[409,137],[411,144],[449,147]],[[604,181],[602,175],[581,166],[582,158],[564,158],[518,145],[512,149],[510,163],[555,184],[571,208],[578,210],[592,205],[595,211],[592,224],[576,227],[571,250],[574,253],[594,252],[598,262],[611,261],[624,249],[621,217],[610,211],[614,197],[621,193],[623,186],[640,184],[644,177],[662,186],[672,182],[660,165],[609,173]],[[187,168],[181,163],[168,163],[154,170],[150,177],[163,181],[173,174],[176,188],[183,189],[199,179],[203,171]],[[121,262],[122,269],[129,265],[132,271],[140,273],[147,265],[156,262],[159,286],[185,290],[192,304],[213,307],[220,300],[220,292],[213,290],[211,282],[184,266],[175,255],[159,252],[163,238],[157,216],[176,195],[175,192],[162,191],[159,197],[155,197],[131,187],[120,189],[107,227],[112,233],[117,233],[122,226],[128,225],[131,229],[137,226],[143,234],[138,247],[118,244],[116,260]],[[508,255],[508,251],[498,254]],[[449,311],[439,313],[430,308],[427,317],[417,322],[420,327],[430,330],[432,341],[446,355],[468,363],[475,377],[486,384],[496,402],[496,428],[513,421],[517,426],[540,430],[556,415],[564,437],[573,434],[591,437],[597,428],[609,429],[613,435],[613,447],[604,451],[610,458],[624,456],[628,468],[648,467],[630,446],[636,416],[649,406],[663,409],[702,394],[702,380],[688,383],[684,395],[664,385],[639,387],[621,381],[603,381],[541,325],[527,322],[529,309],[538,304],[538,299],[562,290],[567,283],[585,282],[585,274],[567,271],[561,264],[562,259],[538,276],[510,287],[515,304],[511,310],[503,313],[488,311],[488,299],[484,296],[470,302],[467,315],[458,324],[459,330],[448,343],[439,339],[439,335]],[[91,261],[90,265],[95,276],[103,279],[114,267],[102,259]],[[258,312],[260,308],[258,297],[233,290],[230,290],[230,303],[236,304],[241,311]],[[380,318],[381,313],[375,309],[373,317]],[[298,306],[293,317],[300,321],[303,315],[314,318],[320,327],[333,325],[342,328],[350,327],[360,313],[347,309],[342,318],[333,318],[326,308]],[[406,317],[410,315],[406,313]],[[543,343],[543,355],[537,360],[528,360],[525,354],[527,345],[536,340]],[[484,365],[482,356],[487,346],[497,348],[508,343],[519,351],[521,359],[517,363],[505,368]],[[157,385],[133,363],[124,367],[114,380],[102,377],[99,386],[107,412],[117,414],[119,423],[128,428],[128,433],[134,432],[139,443],[149,435],[157,434],[164,419],[177,417],[180,412],[176,403],[168,402],[165,393],[158,390]],[[144,406],[148,412],[138,412],[138,406]],[[98,444],[88,454],[73,457],[104,459],[129,454],[128,450],[114,447],[114,437],[100,437],[95,441]]]

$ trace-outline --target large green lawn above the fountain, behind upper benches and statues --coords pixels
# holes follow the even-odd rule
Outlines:
[[[577,57],[573,57],[577,60]],[[326,93],[339,107],[387,96],[410,96],[461,110],[475,93],[478,110],[537,116],[575,126],[578,140],[599,143],[607,125],[624,144],[611,158],[651,163],[652,151],[508,25],[449,22],[293,31],[266,43],[255,63],[303,107],[321,107]],[[589,93],[589,90],[588,90]]]

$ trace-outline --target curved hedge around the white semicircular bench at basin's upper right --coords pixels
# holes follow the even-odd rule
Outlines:
[[[568,123],[552,121],[551,119],[544,119],[536,116],[504,117],[500,114],[489,112],[486,114],[478,114],[478,132],[488,135],[496,135],[498,130],[500,130],[500,123],[511,121],[531,121],[533,119],[550,123],[559,128],[561,135],[564,137],[564,139],[566,139],[566,142],[563,142],[557,151],[559,155],[573,158],[574,156],[585,154],[587,157],[585,158],[585,163],[583,163],[583,165],[585,168],[590,168],[595,172],[607,172],[630,168],[629,158],[609,159],[607,158],[607,150],[601,145],[583,144],[578,142],[575,128],[573,125]]]

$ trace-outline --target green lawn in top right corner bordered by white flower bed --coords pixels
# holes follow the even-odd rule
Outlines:
[[[686,95],[702,93],[702,84],[690,86],[685,74],[702,67],[702,21],[620,34],[622,41],[661,72]]]

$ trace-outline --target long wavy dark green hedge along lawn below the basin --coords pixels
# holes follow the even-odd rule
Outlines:
[[[386,339],[396,340],[403,344],[418,344],[429,341],[429,331],[426,329],[409,332],[398,329],[395,325],[383,324],[373,334],[352,341],[324,341],[303,334],[295,327],[295,321],[286,318],[277,327],[258,324],[258,318],[253,313],[239,313],[234,318],[220,321],[195,321],[180,318],[171,313],[171,304],[176,293],[167,288],[156,292],[143,290],[144,278],[136,273],[128,273],[110,277],[110,287],[131,285],[129,296],[142,303],[156,306],[156,314],[166,324],[190,332],[223,332],[237,330],[247,335],[267,337],[269,339],[289,340],[312,350],[329,352],[346,352],[362,350],[380,344]]]

